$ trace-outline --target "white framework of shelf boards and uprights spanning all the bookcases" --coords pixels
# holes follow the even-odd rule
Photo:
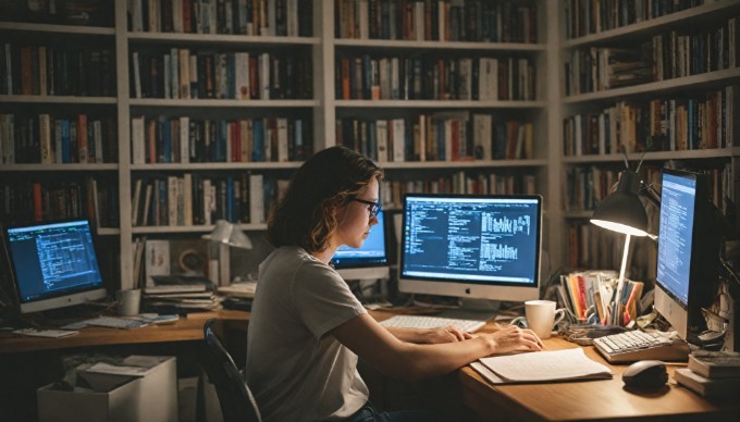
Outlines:
[[[46,174],[51,177],[57,172],[85,175],[106,174],[113,176],[118,183],[119,215],[118,227],[104,227],[101,235],[115,239],[118,237],[120,257],[120,285],[128,288],[133,285],[133,247],[134,238],[141,235],[165,238],[170,235],[182,236],[193,234],[199,236],[212,228],[212,225],[192,226],[133,226],[128,215],[132,214],[132,188],[135,179],[146,174],[182,174],[185,172],[221,173],[254,171],[285,172],[294,171],[298,162],[247,162],[247,163],[132,163],[131,120],[138,115],[169,116],[209,116],[214,115],[259,115],[260,113],[303,113],[310,115],[313,150],[335,145],[336,121],[355,113],[370,116],[409,116],[419,113],[440,111],[467,111],[472,113],[490,113],[493,115],[516,116],[533,123],[533,157],[523,160],[476,160],[476,161],[425,161],[425,162],[384,162],[388,178],[400,174],[449,174],[456,171],[483,173],[515,173],[534,175],[538,193],[542,194],[545,203],[545,224],[543,247],[548,261],[543,263],[543,280],[551,271],[566,263],[568,237],[566,224],[574,219],[588,218],[589,211],[564,211],[565,172],[579,165],[604,165],[618,167],[624,161],[620,154],[565,157],[563,153],[563,120],[584,109],[593,109],[613,104],[625,99],[645,99],[651,97],[678,96],[686,90],[700,91],[716,89],[728,85],[740,84],[740,69],[728,69],[708,74],[692,75],[676,79],[662,80],[630,86],[606,91],[596,91],[575,96],[565,96],[562,87],[566,75],[564,64],[569,51],[591,46],[630,44],[650,39],[655,34],[674,28],[688,28],[694,24],[727,18],[740,14],[740,3],[733,0],[707,2],[693,8],[640,22],[600,34],[587,35],[576,39],[566,39],[565,26],[568,20],[564,9],[566,1],[536,0],[538,42],[443,42],[443,41],[405,41],[382,39],[342,39],[335,37],[334,0],[314,0],[312,8],[312,35],[309,37],[262,37],[244,35],[205,35],[172,33],[134,33],[127,27],[125,1],[113,2],[115,7],[112,27],[86,27],[66,25],[46,25],[30,23],[0,22],[0,35],[29,35],[33,37],[70,38],[78,40],[85,37],[107,39],[115,57],[115,97],[53,97],[53,96],[18,96],[0,95],[0,111],[8,112],[13,105],[25,108],[57,108],[74,105],[81,109],[109,108],[118,121],[118,161],[96,164],[2,164],[0,177],[22,177],[26,174]],[[128,58],[139,48],[178,48],[209,50],[275,50],[303,51],[310,55],[313,76],[311,99],[299,100],[225,100],[225,99],[190,99],[168,100],[152,98],[131,98],[131,67]],[[337,99],[335,92],[335,61],[343,54],[378,53],[386,54],[451,54],[451,55],[486,55],[486,57],[522,57],[529,58],[535,69],[534,99],[528,100],[346,100]],[[220,117],[219,117],[220,119]],[[384,117],[385,119],[385,117]],[[738,157],[740,147],[717,150],[691,150],[673,152],[649,152],[645,161],[662,163],[666,161],[712,161],[720,160],[732,163],[735,169],[735,198],[738,195]],[[637,158],[630,154],[630,160]],[[243,224],[249,232],[264,229],[263,224]]]

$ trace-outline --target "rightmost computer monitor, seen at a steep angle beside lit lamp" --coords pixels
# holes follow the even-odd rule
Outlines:
[[[720,225],[699,173],[663,169],[655,310],[684,339],[705,328],[717,289]]]

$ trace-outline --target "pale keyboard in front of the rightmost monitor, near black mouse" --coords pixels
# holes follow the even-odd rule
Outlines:
[[[686,361],[689,345],[680,338],[669,338],[662,333],[639,330],[593,339],[593,345],[609,363],[628,363],[638,360]]]

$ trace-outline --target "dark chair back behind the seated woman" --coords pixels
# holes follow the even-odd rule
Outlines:
[[[206,345],[200,348],[200,365],[215,386],[221,404],[224,422],[261,422],[257,401],[247,386],[231,355],[221,344],[213,331],[217,320],[208,320],[203,325]]]

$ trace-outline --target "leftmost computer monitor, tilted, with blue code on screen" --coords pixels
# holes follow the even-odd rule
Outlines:
[[[12,225],[3,237],[21,313],[107,296],[88,220]]]

